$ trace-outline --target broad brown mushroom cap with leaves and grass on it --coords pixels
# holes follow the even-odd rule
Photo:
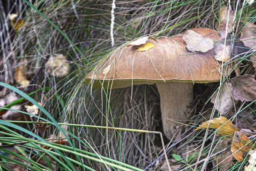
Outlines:
[[[192,29],[199,34],[220,39],[212,29]],[[156,82],[195,82],[209,83],[220,80],[216,68],[218,63],[209,50],[208,52],[190,52],[182,39],[183,33],[171,38],[158,38],[157,42],[150,40],[154,47],[148,51],[137,51],[138,46],[128,46],[113,52],[109,58],[90,72],[85,82],[93,87],[101,88],[99,79],[105,88],[129,87],[132,84],[154,84]],[[110,65],[110,66],[109,66]],[[104,69],[110,67],[105,75]],[[112,84],[113,81],[113,85]],[[111,87],[112,86],[112,87]]]

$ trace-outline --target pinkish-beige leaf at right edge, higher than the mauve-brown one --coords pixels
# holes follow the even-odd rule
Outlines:
[[[256,49],[256,24],[247,23],[241,31],[240,40],[245,46]]]

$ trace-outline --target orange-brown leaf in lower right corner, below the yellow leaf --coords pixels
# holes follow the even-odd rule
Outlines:
[[[235,131],[231,144],[231,151],[237,161],[244,159],[244,154],[250,151],[252,147],[253,142],[251,142],[247,136],[240,131]]]

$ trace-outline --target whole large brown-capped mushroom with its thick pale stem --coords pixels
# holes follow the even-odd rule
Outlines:
[[[219,39],[212,29],[192,29],[212,40]],[[128,46],[113,52],[102,64],[90,72],[85,83],[94,88],[115,89],[138,84],[156,84],[160,94],[163,132],[171,139],[191,112],[193,82],[210,83],[220,80],[217,61],[208,52],[190,52],[182,39],[184,33],[171,38],[151,40],[154,47],[137,51],[137,46]],[[181,131],[178,132],[180,134]]]

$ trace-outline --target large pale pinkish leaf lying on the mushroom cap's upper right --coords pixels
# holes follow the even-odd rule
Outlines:
[[[200,51],[207,52],[213,48],[213,41],[210,38],[205,38],[204,36],[194,32],[192,30],[187,30],[183,35],[183,40],[186,42],[186,48],[192,52]]]

